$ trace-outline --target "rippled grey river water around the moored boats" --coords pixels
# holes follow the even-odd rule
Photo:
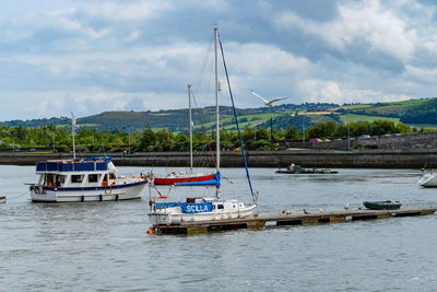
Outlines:
[[[222,174],[236,182],[223,182],[223,197],[249,201],[244,171]],[[251,175],[262,214],[365,200],[437,205],[437,189],[415,184],[418,171]],[[149,190],[135,201],[48,205],[28,200],[34,167],[2,165],[0,182],[1,291],[437,291],[436,215],[157,236],[146,234]]]

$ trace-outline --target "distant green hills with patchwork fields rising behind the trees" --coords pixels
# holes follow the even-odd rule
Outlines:
[[[235,130],[232,108],[221,106],[222,127]],[[193,109],[192,117],[194,130],[200,130],[203,125],[206,129],[214,128],[215,107]],[[390,119],[395,124],[401,121],[414,126],[437,127],[437,98],[421,98],[402,102],[350,104],[340,106],[328,103],[306,103],[302,105],[283,104],[273,107],[258,107],[237,109],[241,128],[270,128],[270,119],[277,129],[296,127],[308,128],[317,122],[333,120],[342,124],[347,121],[373,121],[376,119]],[[187,131],[188,108],[158,112],[105,112],[98,115],[78,118],[82,127],[96,128],[97,130],[137,131],[150,126],[151,128],[169,129],[172,131]],[[0,122],[1,126],[38,127],[43,125],[68,126],[70,118],[44,118],[32,120],[11,120]]]

